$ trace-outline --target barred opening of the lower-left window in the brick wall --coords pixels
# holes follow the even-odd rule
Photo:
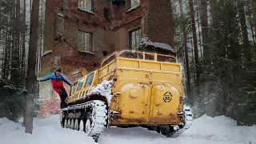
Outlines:
[[[78,51],[92,52],[92,35],[78,30]]]

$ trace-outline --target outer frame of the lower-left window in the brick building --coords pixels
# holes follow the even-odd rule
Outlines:
[[[79,41],[80,41],[80,37],[79,37],[79,33],[84,33],[84,34],[90,34],[90,47],[89,50],[86,50],[86,47],[82,47],[79,46]],[[85,41],[86,42],[86,41]],[[83,44],[85,45],[85,44]],[[78,29],[78,34],[77,34],[77,47],[78,47],[78,51],[79,52],[85,52],[85,53],[90,53],[90,54],[94,54],[94,32],[91,30],[83,30],[83,29]]]

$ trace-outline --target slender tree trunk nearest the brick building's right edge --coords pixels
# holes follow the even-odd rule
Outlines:
[[[183,14],[183,6],[182,0],[179,0],[179,6],[181,11],[181,18],[182,18],[182,34],[183,34],[183,47],[185,52],[185,61],[186,61],[186,85],[187,85],[187,94],[190,94],[190,62],[189,62],[189,54],[187,50],[187,38],[186,38],[186,25],[184,20]]]

